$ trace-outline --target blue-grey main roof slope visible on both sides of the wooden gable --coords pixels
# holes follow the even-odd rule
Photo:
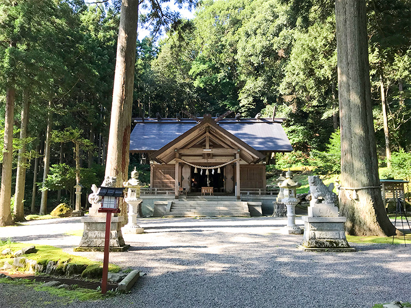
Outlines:
[[[282,119],[223,119],[216,125],[261,152],[291,152]],[[130,152],[157,151],[197,125],[192,119],[135,119]]]

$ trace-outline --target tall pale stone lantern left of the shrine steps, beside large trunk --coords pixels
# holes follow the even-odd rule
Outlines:
[[[137,217],[141,217],[141,202],[140,199],[140,187],[144,186],[138,179],[138,171],[136,167],[132,171],[132,177],[127,181],[123,182],[123,186],[127,189],[127,197],[124,201],[128,204],[128,223],[123,227],[124,234],[142,234],[144,233],[144,228],[141,228],[137,224]]]

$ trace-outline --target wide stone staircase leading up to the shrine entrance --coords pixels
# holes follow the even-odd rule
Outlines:
[[[167,216],[250,216],[247,201],[231,196],[190,196],[169,203]]]

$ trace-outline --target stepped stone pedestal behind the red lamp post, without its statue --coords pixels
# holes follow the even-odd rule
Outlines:
[[[105,215],[105,213],[103,213]],[[110,223],[110,252],[124,252],[130,245],[124,243],[121,233],[121,223],[124,217],[111,217]],[[102,252],[104,251],[106,217],[83,217],[83,237],[75,252]]]

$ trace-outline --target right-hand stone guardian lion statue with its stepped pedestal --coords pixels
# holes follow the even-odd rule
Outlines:
[[[347,242],[344,232],[346,217],[338,216],[335,206],[337,195],[334,185],[324,185],[319,176],[309,176],[311,201],[308,216],[303,216],[305,251],[355,251]]]

